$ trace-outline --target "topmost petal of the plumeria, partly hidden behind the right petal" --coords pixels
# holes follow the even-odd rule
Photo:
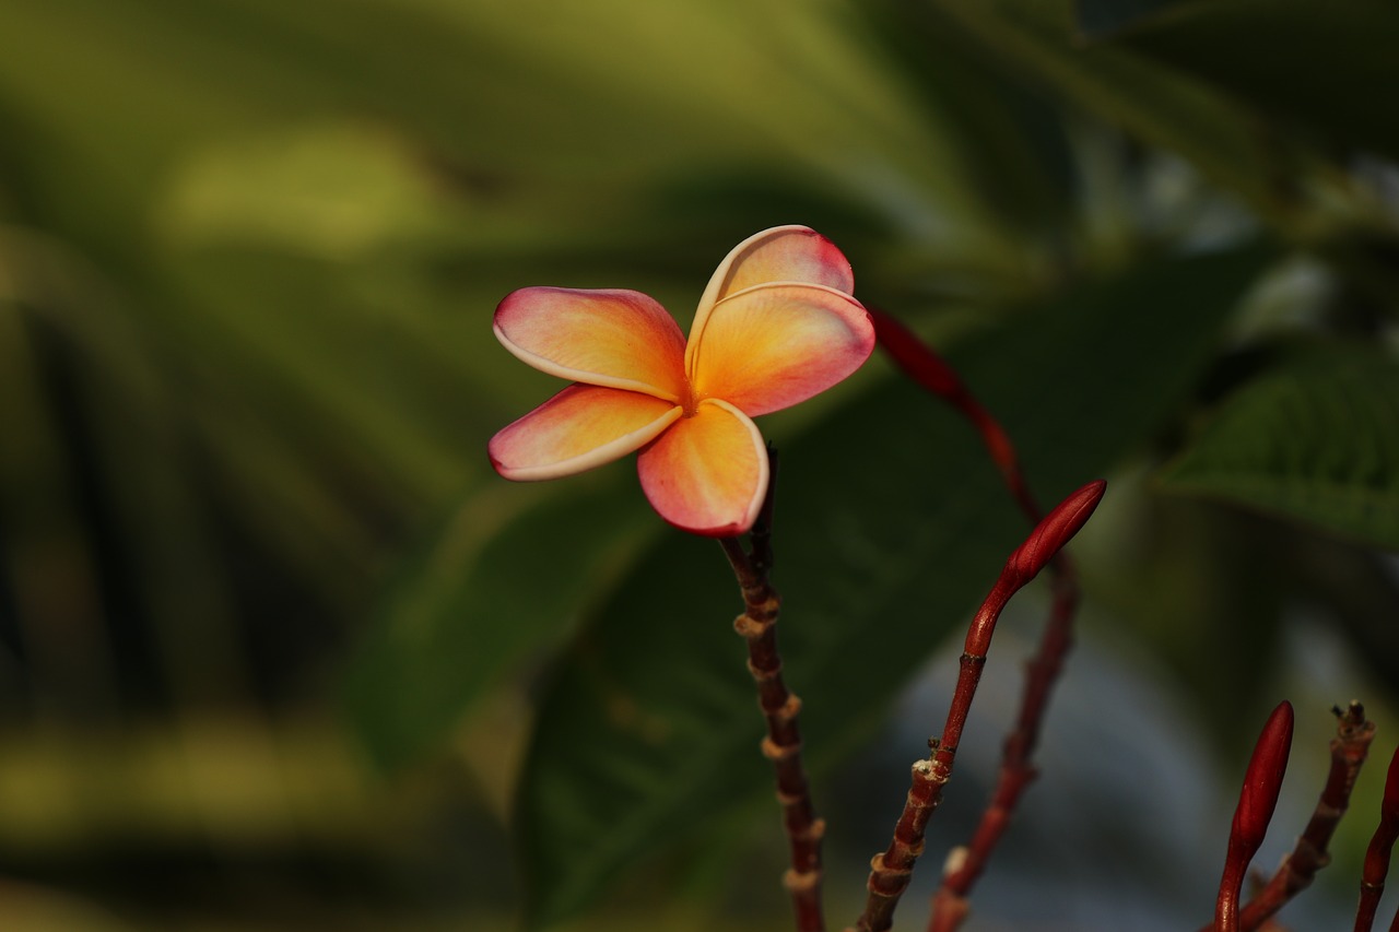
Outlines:
[[[690,344],[704,333],[713,305],[744,288],[774,281],[818,284],[845,294],[855,294],[855,274],[851,263],[830,239],[807,227],[774,227],[754,234],[734,246],[700,298]],[[690,350],[686,369],[694,371]]]

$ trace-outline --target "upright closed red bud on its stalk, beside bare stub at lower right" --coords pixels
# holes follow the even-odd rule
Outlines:
[[[1228,854],[1224,856],[1224,876],[1214,901],[1214,932],[1240,932],[1238,900],[1244,876],[1263,844],[1267,823],[1273,820],[1291,746],[1293,705],[1283,701],[1263,725],[1244,774],[1244,788],[1238,795],[1238,809],[1234,810],[1228,835]]]

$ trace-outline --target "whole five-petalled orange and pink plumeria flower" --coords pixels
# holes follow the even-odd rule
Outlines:
[[[495,309],[495,336],[574,383],[491,438],[491,463],[530,481],[641,451],[641,487],[665,521],[712,537],[743,533],[768,488],[751,418],[831,388],[874,348],[853,284],[828,239],[775,227],[719,263],[688,343],[638,291],[515,291]]]

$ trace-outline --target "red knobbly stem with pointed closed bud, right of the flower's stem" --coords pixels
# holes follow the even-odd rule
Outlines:
[[[932,754],[919,760],[912,768],[912,785],[904,803],[904,812],[894,826],[894,837],[888,848],[870,861],[869,896],[865,911],[853,929],[858,932],[880,932],[894,924],[894,908],[908,889],[914,865],[923,852],[923,835],[928,820],[942,802],[943,786],[951,778],[953,761],[961,743],[972,698],[986,665],[990,638],[996,621],[1010,598],[1035,578],[1045,564],[1063,547],[1102,500],[1107,483],[1088,483],[1073,493],[1055,508],[1034,529],[1030,537],[1006,561],[996,585],[982,603],[967,631],[957,686],[953,691],[947,722],[940,737],[929,742]]]

